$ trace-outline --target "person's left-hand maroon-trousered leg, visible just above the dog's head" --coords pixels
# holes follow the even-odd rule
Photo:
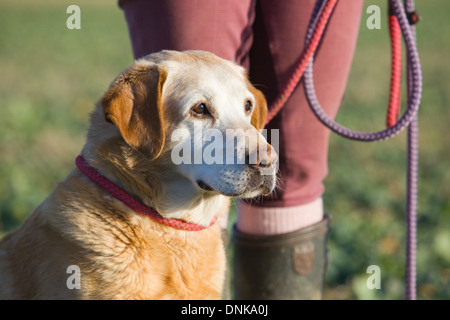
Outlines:
[[[254,0],[119,0],[135,58],[205,50],[248,67]]]

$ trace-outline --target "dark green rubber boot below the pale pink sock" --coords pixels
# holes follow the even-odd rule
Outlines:
[[[234,298],[320,300],[327,263],[329,216],[317,224],[274,236],[233,229]]]

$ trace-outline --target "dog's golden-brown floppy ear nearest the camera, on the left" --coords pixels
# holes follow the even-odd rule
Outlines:
[[[150,159],[157,158],[164,147],[161,94],[166,77],[156,64],[136,63],[117,77],[101,101],[105,119]]]

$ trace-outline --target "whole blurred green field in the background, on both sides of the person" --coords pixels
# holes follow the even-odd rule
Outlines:
[[[366,0],[365,7],[378,4],[384,13],[385,2]],[[0,0],[0,236],[17,227],[74,167],[93,105],[133,61],[116,1],[76,1],[81,30],[66,28],[70,4]],[[450,2],[417,0],[416,6],[424,76],[417,292],[419,299],[449,299]],[[338,121],[376,131],[384,126],[390,53],[386,21],[381,30],[369,30],[368,16],[363,14]],[[332,230],[325,298],[403,299],[406,133],[379,143],[333,134],[329,159],[324,201]],[[380,290],[366,286],[370,265],[381,269]]]

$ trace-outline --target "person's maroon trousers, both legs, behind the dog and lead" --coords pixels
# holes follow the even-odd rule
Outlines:
[[[210,51],[244,66],[270,105],[301,55],[315,0],[119,0],[134,56],[163,49]],[[362,0],[339,1],[316,53],[317,95],[331,117],[341,103]],[[324,192],[329,130],[310,111],[299,85],[267,129],[279,130],[281,181],[257,205],[290,207]]]

